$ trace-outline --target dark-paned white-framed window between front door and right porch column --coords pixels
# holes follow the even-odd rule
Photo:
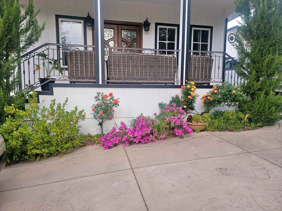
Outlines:
[[[157,27],[157,48],[176,50],[177,49],[177,26]],[[172,51],[163,51],[165,54],[173,54]]]

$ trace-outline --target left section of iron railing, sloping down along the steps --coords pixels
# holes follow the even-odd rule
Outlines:
[[[48,81],[95,83],[95,46],[45,43],[22,55],[19,67],[22,89]]]

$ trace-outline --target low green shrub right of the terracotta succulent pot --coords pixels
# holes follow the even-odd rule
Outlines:
[[[212,113],[212,121],[207,126],[208,131],[241,131],[241,128],[248,124],[245,115],[241,112],[226,110],[222,115],[218,114],[219,112]]]

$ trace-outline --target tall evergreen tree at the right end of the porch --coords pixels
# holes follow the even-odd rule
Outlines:
[[[282,119],[282,97],[275,94],[282,81],[282,2],[281,0],[235,0],[235,11],[242,19],[237,30],[240,64],[237,73],[248,100],[239,108],[250,120],[273,125]]]

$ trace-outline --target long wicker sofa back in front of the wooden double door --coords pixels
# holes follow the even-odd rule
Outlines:
[[[109,52],[108,83],[174,84],[177,59],[173,55]]]

